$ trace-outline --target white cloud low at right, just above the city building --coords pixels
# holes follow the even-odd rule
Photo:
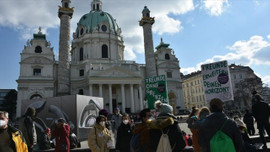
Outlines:
[[[237,63],[246,66],[270,65],[270,42],[265,41],[262,36],[255,35],[252,36],[248,41],[236,41],[232,46],[227,46],[226,48],[233,52],[229,52],[225,55],[215,55],[210,59],[198,63],[196,67],[188,67],[183,69],[188,69],[185,71],[194,69],[191,71],[194,72],[196,70],[200,70],[200,66],[202,64],[221,60],[227,60],[229,63]],[[183,70],[181,71],[184,72]]]

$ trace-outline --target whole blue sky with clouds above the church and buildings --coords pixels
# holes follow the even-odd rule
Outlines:
[[[71,35],[92,0],[71,0],[74,15]],[[154,46],[163,38],[188,74],[204,63],[228,60],[250,66],[270,85],[270,1],[269,0],[102,0],[122,29],[125,59],[144,63],[143,31],[138,21],[146,5],[155,17]],[[20,53],[26,41],[38,32],[46,33],[58,60],[61,0],[0,1],[0,88],[17,88]]]

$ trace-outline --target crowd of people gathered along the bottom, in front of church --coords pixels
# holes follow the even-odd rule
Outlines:
[[[70,148],[79,147],[80,142],[63,118],[38,135],[35,114],[34,108],[28,108],[16,129],[8,125],[8,113],[0,111],[0,152],[51,148],[56,152],[69,152]],[[270,135],[270,106],[258,94],[253,94],[252,109],[246,110],[243,120],[238,116],[228,117],[218,98],[209,102],[209,108],[193,107],[186,120],[192,135],[180,129],[172,106],[160,101],[155,102],[154,110],[143,109],[139,113],[140,123],[134,123],[129,114],[121,114],[119,108],[114,109],[110,120],[108,116],[108,110],[100,110],[90,129],[88,146],[91,152],[112,149],[116,152],[256,152],[258,146],[250,139],[255,134],[254,118],[264,150],[267,149],[265,131],[268,137]]]

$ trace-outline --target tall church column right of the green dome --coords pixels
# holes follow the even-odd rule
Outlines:
[[[150,11],[145,6],[142,11],[142,19],[140,20],[140,26],[143,27],[146,78],[157,76],[156,61],[153,48],[153,36],[152,36],[152,25],[154,23],[155,23],[154,18],[150,17]]]

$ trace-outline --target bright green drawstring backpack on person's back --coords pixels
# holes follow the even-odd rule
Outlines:
[[[228,122],[224,122],[222,127],[214,134],[210,140],[210,152],[235,152],[235,147],[232,139],[222,132],[223,127]]]

